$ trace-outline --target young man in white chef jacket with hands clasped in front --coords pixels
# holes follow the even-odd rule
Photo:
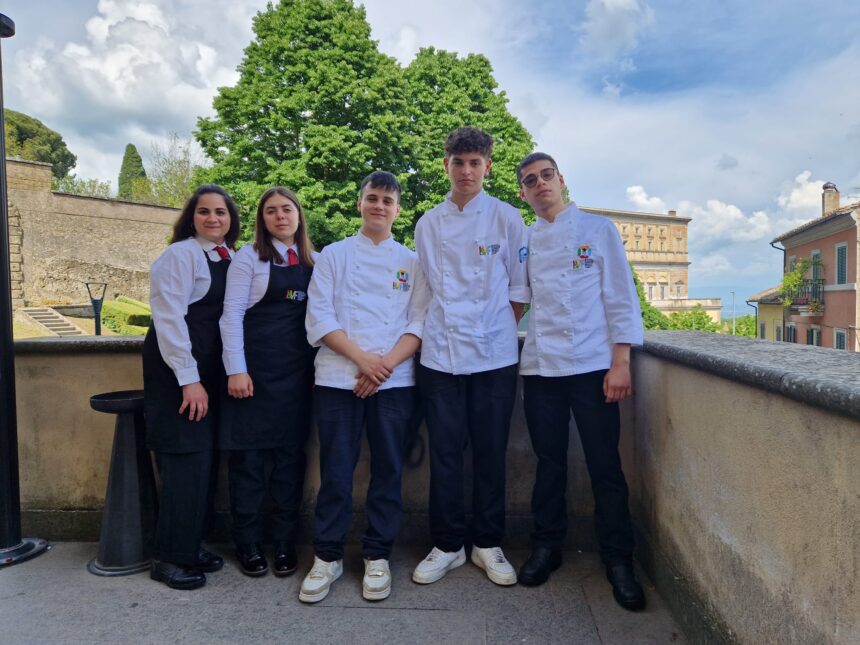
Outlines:
[[[320,490],[314,564],[299,593],[303,602],[325,598],[343,573],[363,429],[371,478],[362,594],[382,600],[391,593],[388,560],[400,527],[404,444],[417,402],[412,357],[429,300],[415,252],[391,235],[400,193],[391,173],[376,171],[364,179],[361,230],[322,250],[308,287],[308,342],[320,347],[314,363]]]

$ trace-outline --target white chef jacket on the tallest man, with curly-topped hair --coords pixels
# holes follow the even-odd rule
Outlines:
[[[421,364],[449,374],[513,365],[519,350],[510,302],[528,302],[528,229],[520,212],[483,191],[463,210],[445,201],[415,227],[433,292]]]

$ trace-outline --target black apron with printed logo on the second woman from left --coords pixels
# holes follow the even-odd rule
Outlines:
[[[310,420],[314,351],[305,332],[313,269],[269,263],[269,285],[245,312],[245,361],[254,396],[222,391],[219,441],[224,450],[278,448]]]

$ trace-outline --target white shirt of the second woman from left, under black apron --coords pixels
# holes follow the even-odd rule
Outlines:
[[[287,249],[298,253],[298,247],[287,246],[272,239],[275,250],[284,259],[276,264],[287,264]],[[245,363],[245,312],[263,299],[269,288],[271,264],[262,261],[252,243],[246,244],[230,263],[227,270],[227,291],[224,293],[224,313],[221,314],[222,358],[227,376],[248,371]]]

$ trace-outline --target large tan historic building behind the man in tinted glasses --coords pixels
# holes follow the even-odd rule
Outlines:
[[[690,260],[687,256],[689,217],[679,217],[673,210],[664,215],[588,206],[580,208],[587,213],[608,217],[618,228],[627,259],[639,275],[648,302],[667,316],[702,305],[715,322],[720,321],[719,298],[687,297],[690,284]]]

